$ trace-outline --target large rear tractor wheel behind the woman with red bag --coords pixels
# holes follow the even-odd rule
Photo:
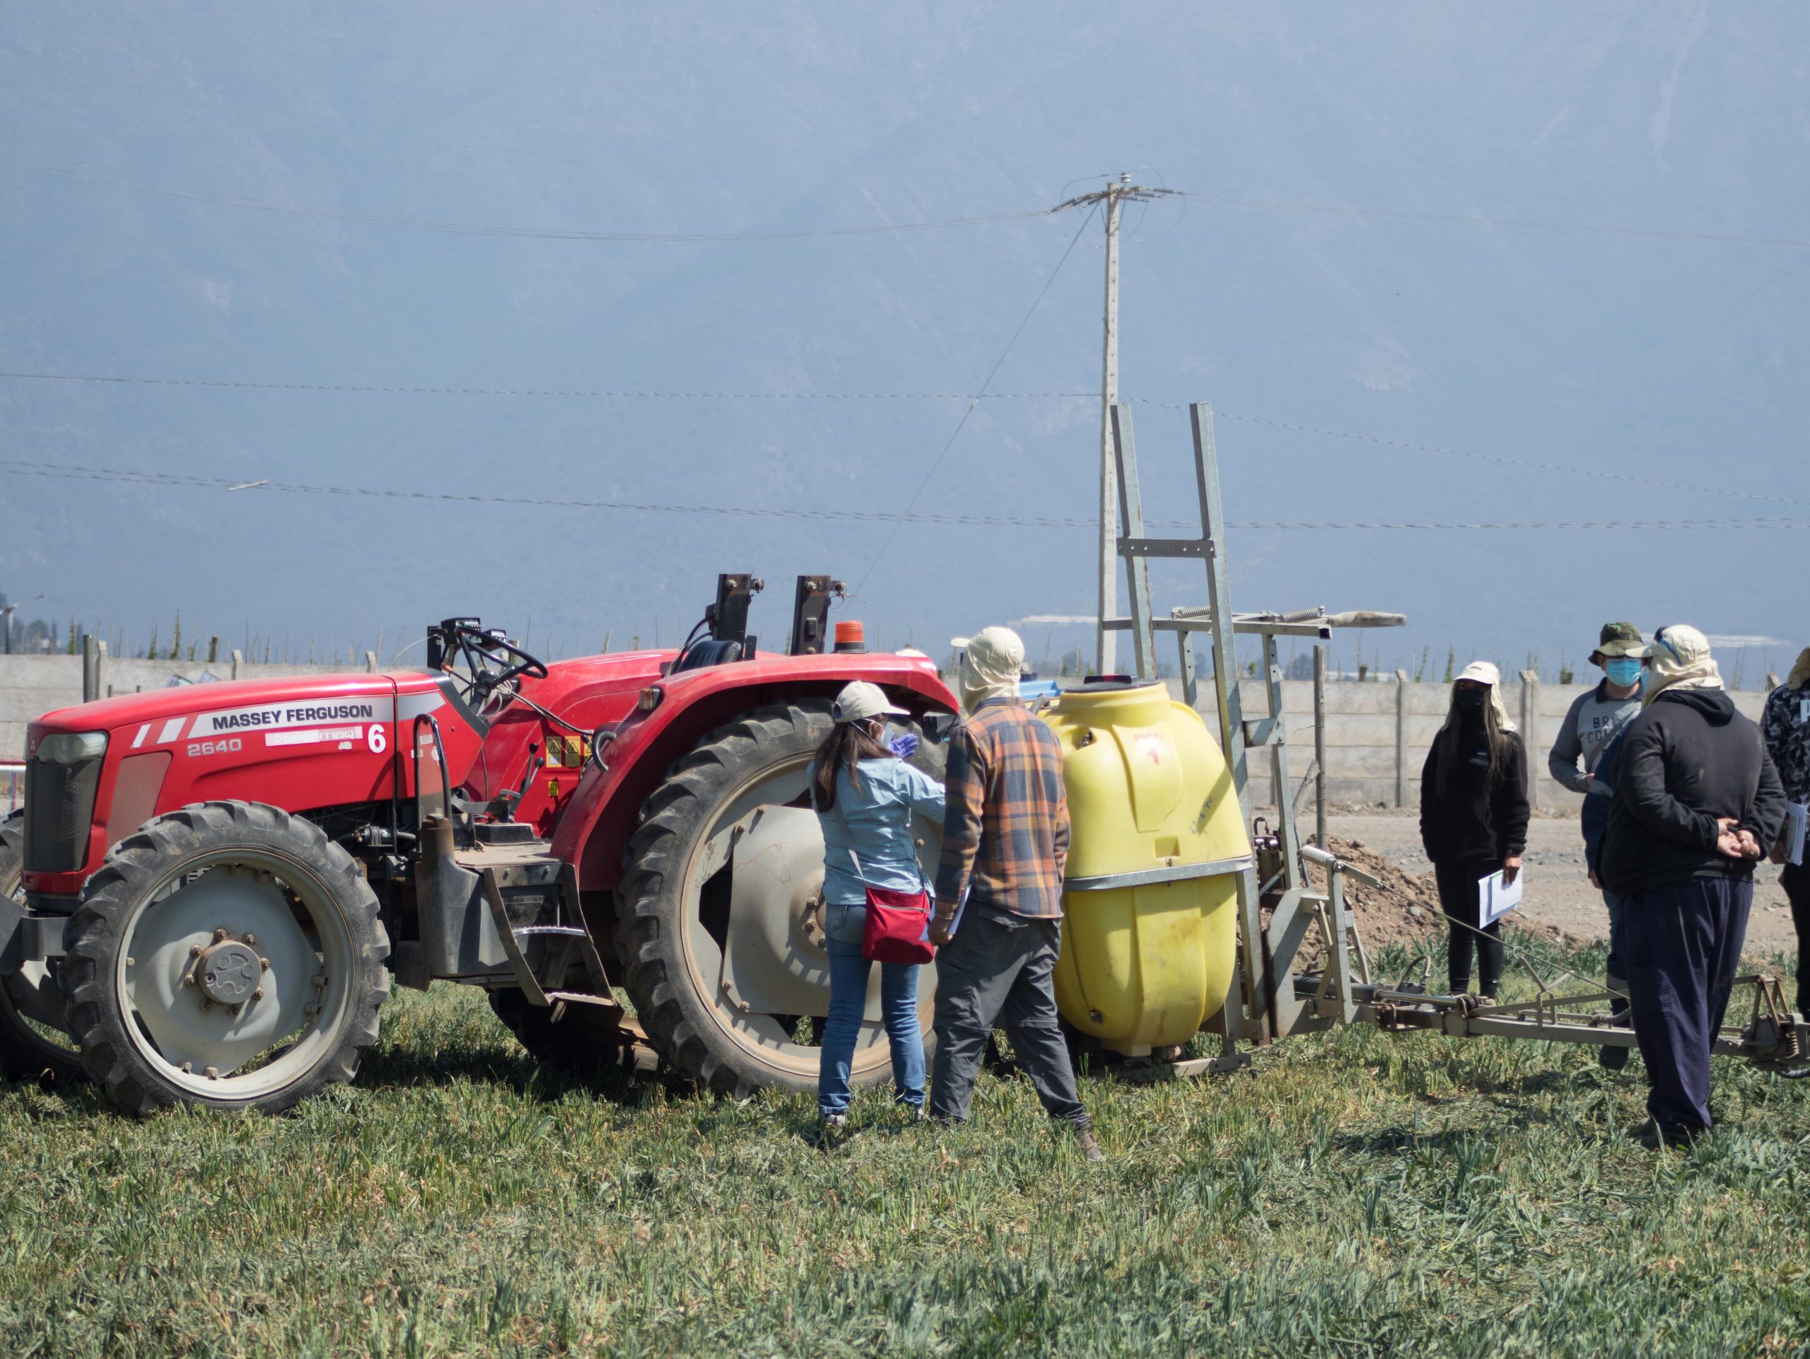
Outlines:
[[[635,1013],[661,1055],[710,1089],[814,1089],[829,959],[818,898],[824,834],[805,798],[829,702],[760,708],[706,735],[648,798],[617,889],[615,948]],[[912,764],[941,778],[943,749]],[[938,832],[919,825],[925,863]],[[936,974],[925,970],[925,1030]],[[851,1079],[891,1073],[878,1022],[880,970]],[[930,1035],[925,1033],[925,1046]]]

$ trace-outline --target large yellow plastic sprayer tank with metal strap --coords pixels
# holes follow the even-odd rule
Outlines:
[[[1043,711],[1062,740],[1072,840],[1062,1017],[1142,1057],[1187,1042],[1236,966],[1236,869],[1251,854],[1231,769],[1160,682],[1095,682]],[[1200,865],[1224,865],[1200,874]]]

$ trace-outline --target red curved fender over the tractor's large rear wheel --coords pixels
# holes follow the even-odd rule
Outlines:
[[[643,803],[704,733],[764,704],[833,699],[849,680],[878,684],[914,718],[957,708],[930,660],[909,655],[762,655],[662,677],[650,686],[655,706],[597,744],[554,829],[554,854],[577,865],[579,890],[612,890]]]

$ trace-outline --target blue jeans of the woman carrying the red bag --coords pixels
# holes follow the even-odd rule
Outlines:
[[[816,1075],[818,1113],[847,1113],[849,1066],[867,1010],[867,974],[862,928],[867,907],[824,907],[824,948],[829,952],[829,1019]],[[880,1022],[892,1046],[892,1089],[900,1104],[923,1107],[923,1031],[918,1028],[918,965],[880,965]]]

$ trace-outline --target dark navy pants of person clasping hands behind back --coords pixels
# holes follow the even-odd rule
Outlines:
[[[1754,885],[1691,878],[1622,901],[1634,1037],[1647,1064],[1647,1113],[1667,1135],[1710,1126],[1709,1053],[1747,943]]]

